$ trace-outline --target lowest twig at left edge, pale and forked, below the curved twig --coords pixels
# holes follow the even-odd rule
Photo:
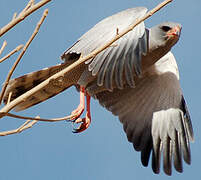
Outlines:
[[[37,118],[40,118],[39,116],[37,116]],[[27,120],[24,124],[22,124],[19,128],[14,129],[14,130],[10,130],[10,131],[3,131],[0,132],[0,136],[7,136],[7,135],[11,135],[11,134],[17,134],[17,133],[21,133],[22,131],[31,128],[34,124],[36,124],[38,121],[31,121],[31,120]]]

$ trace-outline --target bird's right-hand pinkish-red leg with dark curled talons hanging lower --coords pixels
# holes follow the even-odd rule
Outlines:
[[[91,124],[91,112],[90,112],[91,96],[89,96],[87,92],[86,92],[86,99],[87,99],[87,109],[86,109],[85,118],[78,118],[75,120],[75,123],[81,123],[81,125],[77,129],[74,129],[73,131],[74,133],[80,133],[86,130]]]

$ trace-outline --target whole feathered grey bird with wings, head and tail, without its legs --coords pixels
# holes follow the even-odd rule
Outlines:
[[[11,80],[4,102],[11,91],[13,100],[78,60],[80,55],[105,44],[146,11],[143,7],[131,8],[102,20],[64,52],[63,64]],[[182,157],[186,163],[191,162],[189,142],[193,140],[193,130],[176,61],[170,52],[179,39],[180,29],[181,25],[173,22],[150,29],[141,23],[96,57],[51,81],[16,109],[31,107],[72,85],[84,86],[90,96],[119,117],[128,141],[141,151],[144,166],[152,153],[155,173],[160,172],[161,156],[166,174],[171,175],[172,162],[182,172]],[[173,30],[177,34],[171,34]]]

